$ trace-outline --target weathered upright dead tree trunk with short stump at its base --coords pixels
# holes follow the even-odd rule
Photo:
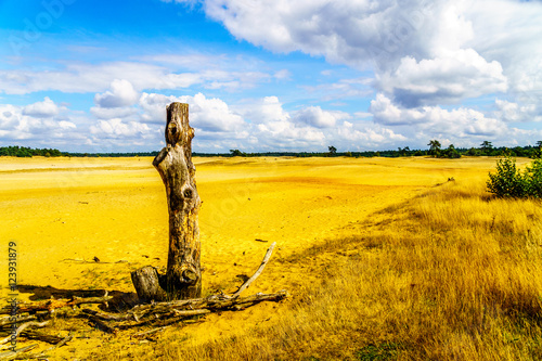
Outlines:
[[[167,107],[166,147],[154,158],[153,166],[164,181],[169,211],[169,254],[165,288],[171,299],[197,298],[202,293],[201,244],[197,214],[201,199],[192,163],[194,129],[189,125],[189,104],[171,103]],[[143,269],[132,272],[140,298],[159,300],[157,272]],[[139,272],[139,273],[138,273]]]

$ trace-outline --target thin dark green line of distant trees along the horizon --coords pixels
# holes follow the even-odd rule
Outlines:
[[[259,153],[245,153],[240,150],[230,150],[229,153],[192,153],[193,156],[198,157],[410,157],[410,156],[433,156],[437,158],[460,158],[462,156],[504,156],[509,155],[514,157],[530,157],[539,158],[542,154],[542,141],[537,142],[537,145],[495,147],[489,141],[483,141],[479,147],[455,147],[450,144],[447,149],[442,149],[438,140],[430,140],[427,144],[428,150],[411,150],[409,146],[398,147],[397,150],[389,151],[364,151],[364,152],[338,152],[334,145],[327,147],[327,152],[259,152]],[[156,156],[158,152],[130,152],[130,153],[72,153],[61,152],[53,149],[30,149],[25,146],[2,146],[0,147],[0,156],[15,156],[15,157],[133,157],[133,156]]]

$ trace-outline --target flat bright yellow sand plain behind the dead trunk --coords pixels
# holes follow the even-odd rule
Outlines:
[[[132,292],[130,271],[167,262],[166,195],[151,163],[149,157],[1,157],[5,256],[0,270],[7,270],[8,242],[13,241],[20,284]],[[253,294],[292,289],[319,276],[302,265],[284,268],[273,260],[276,265],[323,240],[354,234],[354,225],[376,217],[375,211],[451,177],[479,182],[495,159],[217,157],[194,163],[203,201],[204,293],[235,291],[242,282],[237,276],[250,275],[276,242],[270,266],[247,292]],[[101,263],[80,262],[93,257]],[[233,328],[228,320],[209,322],[222,334]],[[210,337],[208,330],[184,332],[204,339]]]

